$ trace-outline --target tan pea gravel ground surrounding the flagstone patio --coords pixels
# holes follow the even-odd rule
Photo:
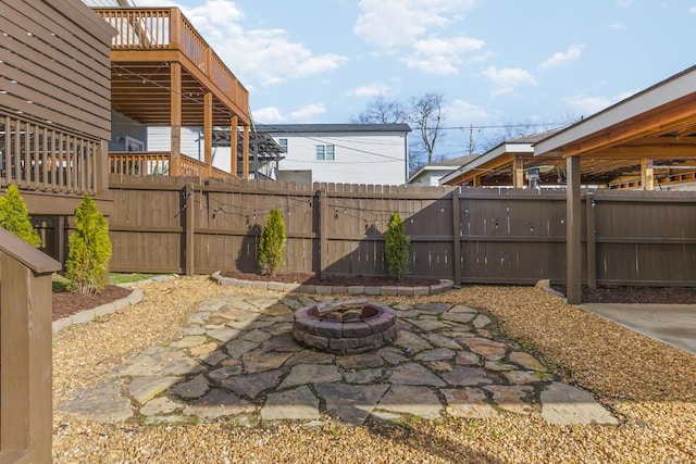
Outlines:
[[[94,385],[129,354],[172,339],[198,304],[224,288],[206,277],[152,283],[144,301],[53,340],[53,402]],[[563,381],[593,392],[619,426],[549,425],[539,415],[489,419],[324,422],[247,427],[229,421],[148,426],[54,415],[58,463],[606,463],[696,462],[696,356],[568,305],[537,288],[464,287],[399,302],[484,309],[500,330]]]

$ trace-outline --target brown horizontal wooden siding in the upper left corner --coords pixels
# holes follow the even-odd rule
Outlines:
[[[0,109],[109,140],[114,30],[78,0],[5,0]]]

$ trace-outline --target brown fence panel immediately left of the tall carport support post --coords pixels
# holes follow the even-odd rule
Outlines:
[[[462,281],[566,279],[566,192],[460,191]]]

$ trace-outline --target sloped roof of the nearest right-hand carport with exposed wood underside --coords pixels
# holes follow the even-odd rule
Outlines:
[[[539,140],[534,156],[580,156],[581,179],[604,172],[609,187],[694,181],[696,66]]]

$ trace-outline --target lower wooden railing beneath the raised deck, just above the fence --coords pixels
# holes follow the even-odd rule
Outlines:
[[[109,173],[141,176],[169,176],[170,153],[164,151],[112,151],[109,153]],[[208,177],[208,165],[192,158],[179,158],[182,176]],[[232,174],[212,168],[212,177],[232,178]]]

